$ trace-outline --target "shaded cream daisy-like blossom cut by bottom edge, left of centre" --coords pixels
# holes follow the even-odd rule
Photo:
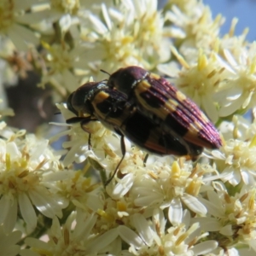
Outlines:
[[[73,221],[76,221],[73,227]],[[61,227],[57,218],[49,230],[49,241],[26,238],[30,249],[22,250],[21,256],[84,256],[84,255],[119,255],[121,240],[118,230],[108,230],[102,235],[94,234],[96,215],[89,212],[72,212]]]

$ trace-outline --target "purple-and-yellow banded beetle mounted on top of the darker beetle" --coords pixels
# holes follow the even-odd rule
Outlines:
[[[109,88],[119,90],[163,132],[177,137],[189,147],[219,148],[222,144],[217,129],[192,100],[166,79],[142,67],[120,68],[108,79]]]

